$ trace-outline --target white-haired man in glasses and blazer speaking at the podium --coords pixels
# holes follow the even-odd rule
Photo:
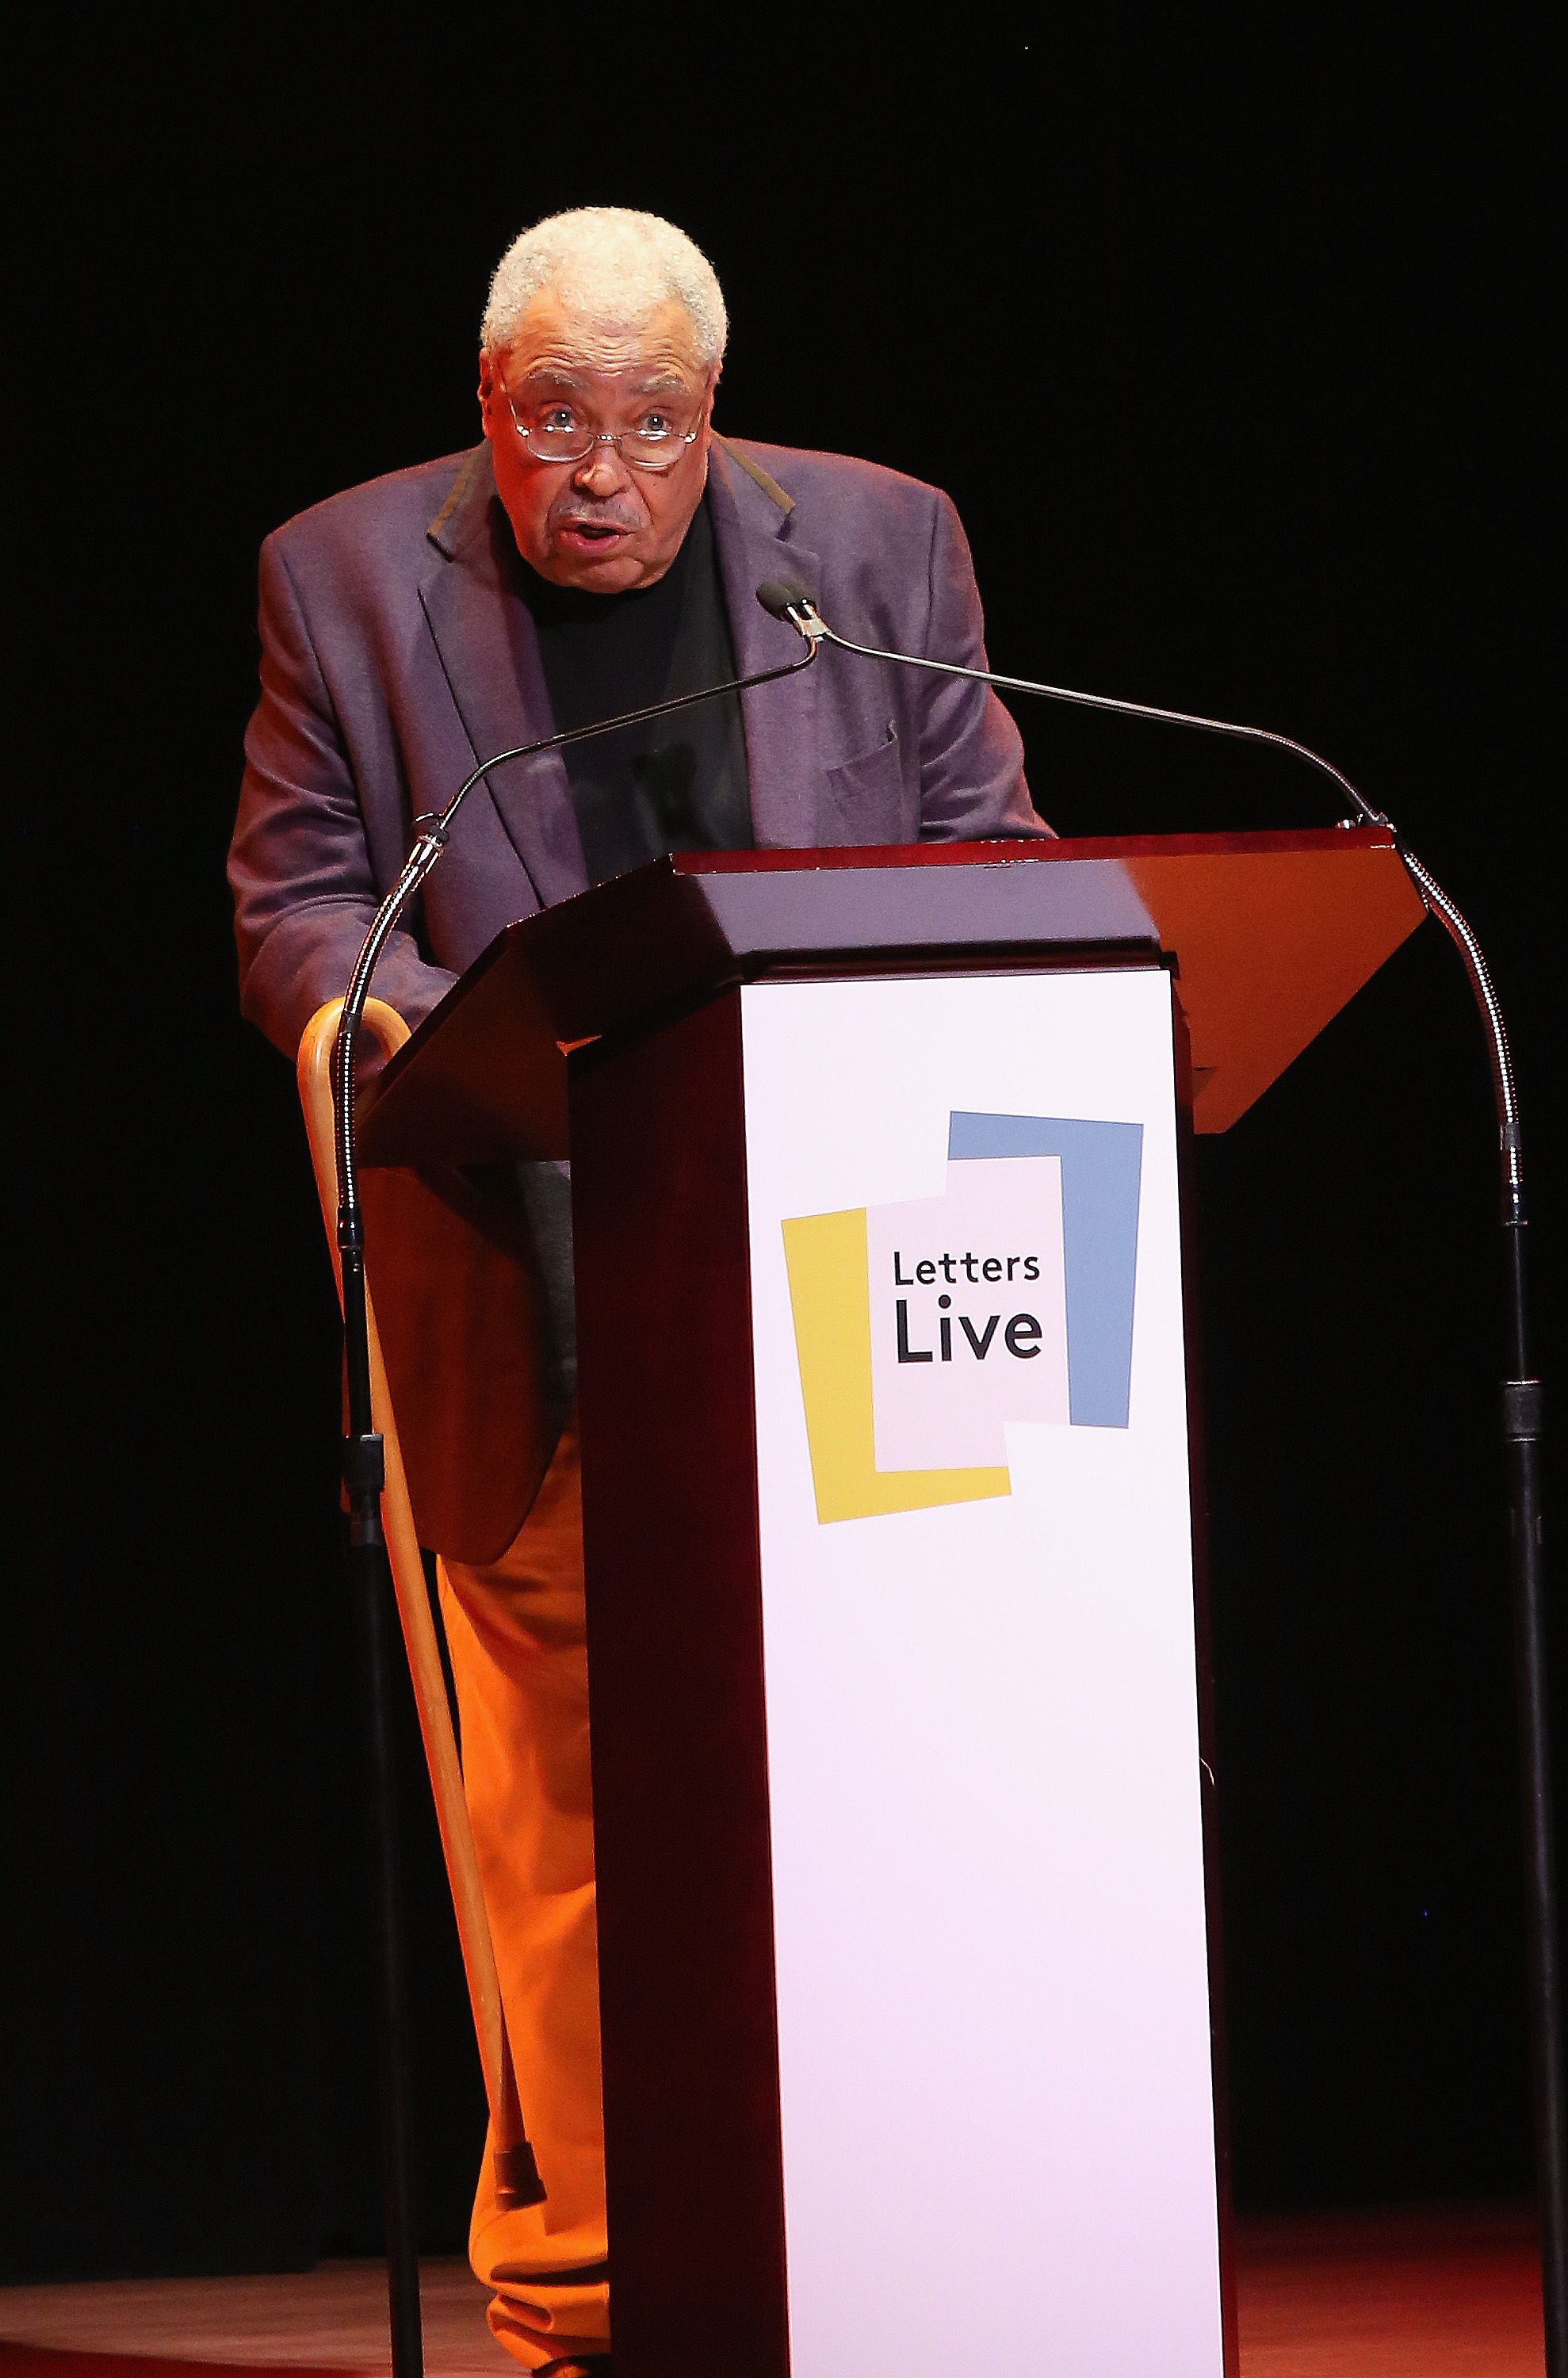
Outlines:
[[[340,994],[409,842],[478,759],[788,661],[754,602],[790,575],[845,633],[985,666],[940,492],[714,433],[726,312],[650,214],[585,207],[502,257],[483,442],[319,504],[262,547],[262,702],[231,851],[243,1006],[293,1053]],[[821,663],[797,682],[497,768],[376,989],[419,1023],[519,916],[673,849],[1040,835],[1016,728],[980,685]],[[443,1560],[464,1784],[509,2033],[550,2190],[473,2269],[528,2368],[607,2368],[583,1550],[564,1182],[521,1206],[545,1282],[554,1453],[512,1548]],[[695,2304],[702,2242],[692,2240]],[[700,2316],[700,2314],[695,2314]]]

